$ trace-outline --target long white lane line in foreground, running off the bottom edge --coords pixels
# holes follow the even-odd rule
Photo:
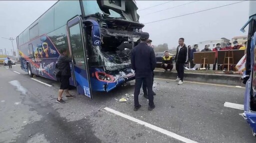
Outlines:
[[[149,123],[146,123],[146,122],[143,122],[143,121],[141,121],[141,120],[138,120],[138,119],[136,119],[136,118],[130,117],[130,116],[125,115],[125,114],[122,114],[122,113],[120,113],[120,112],[118,112],[118,111],[112,110],[112,109],[110,109],[110,108],[105,107],[104,110],[106,110],[106,111],[108,111],[108,112],[111,112],[111,113],[113,113],[113,114],[115,114],[115,115],[121,116],[121,117],[123,117],[123,118],[125,118],[125,119],[128,119],[128,120],[130,120],[130,121],[136,122],[136,123],[138,123],[138,124],[140,124],[140,125],[144,125],[144,126],[150,128],[150,129],[153,129],[153,130],[155,130],[155,131],[158,131],[158,132],[160,132],[160,133],[162,133],[162,134],[165,134],[165,135],[167,135],[167,136],[169,136],[169,137],[172,137],[172,138],[177,139],[177,140],[179,140],[179,141],[182,141],[182,142],[184,142],[184,143],[197,143],[197,142],[194,142],[194,141],[192,141],[192,140],[190,140],[190,139],[187,139],[187,138],[184,138],[184,137],[182,137],[182,136],[179,136],[179,135],[177,135],[177,134],[175,134],[175,133],[169,132],[169,131],[167,131],[167,130],[161,129],[161,128],[156,127],[156,126],[154,126],[154,125],[151,125],[151,124],[149,124]]]

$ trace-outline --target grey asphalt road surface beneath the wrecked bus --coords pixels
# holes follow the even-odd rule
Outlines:
[[[49,87],[29,78],[19,65],[5,67],[0,67],[0,143],[183,143],[181,138],[197,143],[256,142],[238,115],[243,111],[223,106],[243,104],[243,88],[154,79],[155,109],[148,111],[148,101],[140,96],[142,107],[134,112],[134,82],[110,93],[93,93],[93,100],[77,95],[57,104],[59,83],[35,78]],[[70,93],[76,95],[76,90]],[[120,103],[123,97],[127,102]],[[179,136],[167,136],[105,107]]]

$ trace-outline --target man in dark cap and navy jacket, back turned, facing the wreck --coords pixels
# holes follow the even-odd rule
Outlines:
[[[156,59],[153,48],[146,44],[149,38],[147,32],[141,32],[140,43],[131,50],[131,69],[135,71],[134,88],[134,111],[137,111],[141,105],[138,103],[138,95],[142,82],[146,83],[148,95],[148,110],[154,109],[152,73],[156,65]]]

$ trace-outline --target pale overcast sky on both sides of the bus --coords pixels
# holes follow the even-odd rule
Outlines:
[[[2,1],[0,0],[0,37],[13,37],[21,33],[43,12],[45,12],[57,0],[36,0],[36,1]],[[139,22],[148,23],[155,20],[179,16],[208,8],[213,8],[229,3],[238,2],[238,0],[136,0],[137,13],[140,15]],[[195,1],[195,2],[192,2]],[[241,0],[242,1],[242,0]],[[153,5],[160,3],[159,6]],[[192,2],[189,4],[185,4]],[[234,36],[247,35],[239,29],[248,20],[248,3],[241,3],[220,7],[195,14],[167,19],[159,22],[145,24],[143,31],[150,34],[152,44],[158,45],[167,43],[169,48],[176,47],[178,38],[183,37],[186,45],[197,44],[200,41],[219,39],[225,37],[230,39]],[[183,6],[174,7],[185,4]],[[144,9],[147,8],[147,9]],[[163,10],[170,8],[167,10]],[[144,10],[140,10],[144,9]],[[159,11],[160,12],[155,12]],[[0,38],[0,49],[6,48],[6,51],[12,49],[11,42]],[[16,51],[16,42],[13,41]],[[199,47],[200,48],[200,47]],[[201,47],[202,48],[202,47]]]

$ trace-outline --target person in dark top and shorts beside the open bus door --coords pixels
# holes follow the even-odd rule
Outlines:
[[[71,58],[67,56],[67,51],[65,48],[60,49],[60,55],[57,60],[57,68],[61,71],[60,77],[60,87],[58,90],[58,98],[56,100],[57,103],[63,104],[65,101],[62,100],[62,93],[65,91],[66,98],[73,98],[75,96],[70,95],[68,92],[69,87],[69,78],[71,77],[71,69],[69,66],[69,62],[71,62]]]

